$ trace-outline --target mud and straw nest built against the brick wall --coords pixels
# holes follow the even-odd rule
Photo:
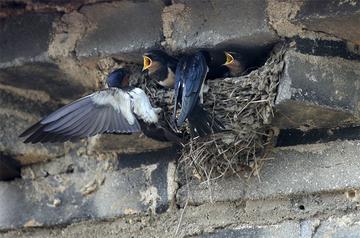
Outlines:
[[[285,51],[283,44],[277,45],[266,63],[248,75],[208,81],[204,107],[227,130],[208,137],[188,138],[179,160],[182,170],[209,179],[238,173],[249,165],[256,169],[257,158],[265,155],[272,139],[269,124]],[[169,121],[173,91],[159,90],[151,82],[145,85],[152,102],[164,108],[163,120]]]

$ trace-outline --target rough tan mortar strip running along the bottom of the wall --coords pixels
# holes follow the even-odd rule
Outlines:
[[[299,226],[303,235],[300,237],[307,238],[311,237],[309,232],[312,232],[312,228],[319,226],[318,220],[325,222],[329,217],[341,217],[344,212],[355,211],[359,194],[358,191],[353,192],[355,196],[351,198],[352,193],[345,196],[340,192],[267,200],[266,204],[263,200],[207,203],[155,216],[127,215],[108,221],[73,223],[66,227],[8,231],[2,237],[159,237],[159,234],[161,237],[192,237],[233,230],[280,232],[282,227]],[[301,205],[305,208],[300,209]],[[175,235],[181,216],[182,222]]]

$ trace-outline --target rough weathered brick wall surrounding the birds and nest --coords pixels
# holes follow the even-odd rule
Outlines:
[[[357,237],[359,21],[354,0],[1,2],[0,237]],[[176,148],[143,135],[17,137],[111,68],[139,70],[147,49],[279,40],[291,48],[272,126],[305,145],[274,148],[255,174],[178,178]]]

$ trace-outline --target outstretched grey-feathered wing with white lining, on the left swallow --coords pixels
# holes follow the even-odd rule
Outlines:
[[[66,105],[22,133],[27,142],[58,142],[100,133],[139,132],[132,100],[121,89],[110,88]]]

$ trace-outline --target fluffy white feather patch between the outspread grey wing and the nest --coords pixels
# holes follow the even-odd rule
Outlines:
[[[157,123],[157,108],[153,108],[149,98],[140,88],[134,88],[129,92],[133,105],[133,112],[146,123]]]

